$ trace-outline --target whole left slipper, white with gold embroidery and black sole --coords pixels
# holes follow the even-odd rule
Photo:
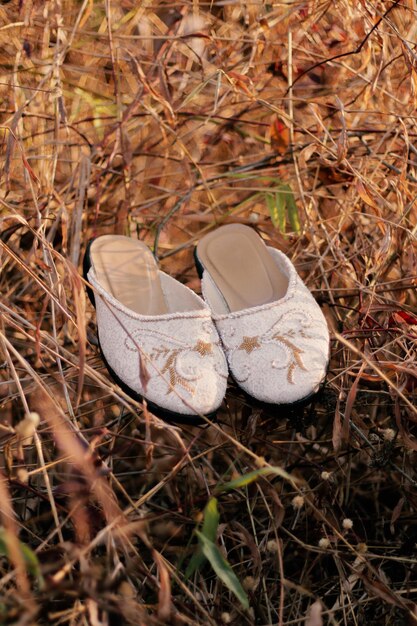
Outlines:
[[[167,420],[214,417],[227,363],[206,303],[160,271],[141,241],[92,240],[84,257],[99,345],[112,378]]]

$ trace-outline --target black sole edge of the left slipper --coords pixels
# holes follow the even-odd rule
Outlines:
[[[90,239],[87,243],[87,248],[84,254],[84,259],[83,259],[83,276],[84,279],[88,282],[88,278],[87,278],[87,274],[90,271],[90,267],[91,267],[91,255],[90,255],[90,250],[91,250],[91,245],[94,242],[94,238]],[[96,306],[96,300],[94,297],[94,291],[91,289],[91,287],[87,287],[87,295],[89,297],[89,300],[91,302],[91,304],[94,306]],[[170,411],[169,409],[164,409],[163,407],[158,406],[157,404],[154,404],[153,402],[151,402],[150,400],[147,400],[146,398],[144,398],[143,396],[141,396],[139,393],[137,393],[136,391],[134,391],[133,389],[131,389],[129,387],[129,385],[127,385],[126,383],[124,383],[121,378],[119,378],[119,376],[116,374],[116,372],[112,369],[112,367],[109,365],[109,363],[107,362],[106,357],[103,354],[103,350],[101,349],[101,345],[100,345],[100,338],[98,335],[98,329],[97,329],[97,339],[98,339],[98,347],[99,347],[99,351],[100,351],[100,356],[107,368],[107,371],[109,372],[111,378],[114,380],[114,382],[120,387],[120,389],[122,389],[122,391],[125,392],[126,395],[128,395],[130,398],[132,398],[132,400],[135,400],[136,402],[139,402],[140,404],[143,404],[143,402],[146,402],[146,406],[149,409],[149,411],[151,413],[154,413],[157,417],[160,417],[162,419],[164,419],[167,422],[175,422],[177,424],[188,424],[190,426],[198,426],[198,425],[202,425],[202,424],[206,424],[207,422],[200,417],[200,415],[187,415],[185,413],[176,413],[175,411]],[[214,413],[209,413],[208,415],[206,415],[207,419],[210,421],[215,421],[216,420],[216,415],[217,415],[217,411]]]

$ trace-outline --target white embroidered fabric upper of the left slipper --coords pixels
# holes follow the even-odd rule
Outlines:
[[[144,316],[107,292],[90,268],[101,350],[117,376],[151,402],[185,415],[211,413],[226,392],[227,363],[210,310],[185,285],[159,277],[169,313]]]

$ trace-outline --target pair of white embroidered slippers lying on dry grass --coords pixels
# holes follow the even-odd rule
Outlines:
[[[119,235],[84,258],[103,360],[135,400],[173,421],[213,418],[230,374],[258,401],[288,405],[326,375],[326,320],[288,257],[240,224],[195,249],[203,298],[160,271],[150,249]]]

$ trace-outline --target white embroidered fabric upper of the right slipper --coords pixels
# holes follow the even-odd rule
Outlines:
[[[288,257],[268,250],[288,277],[288,291],[280,300],[230,313],[207,271],[202,291],[239,386],[263,402],[290,404],[315,393],[323,381],[329,330]]]

